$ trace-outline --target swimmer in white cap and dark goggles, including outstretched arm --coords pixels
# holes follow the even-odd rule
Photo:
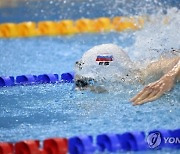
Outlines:
[[[76,62],[75,84],[80,90],[90,89],[106,92],[108,82],[148,84],[130,101],[133,105],[151,102],[170,91],[175,82],[180,81],[179,50],[174,57],[161,57],[142,68],[131,61],[129,56],[117,45],[103,44],[88,50]]]

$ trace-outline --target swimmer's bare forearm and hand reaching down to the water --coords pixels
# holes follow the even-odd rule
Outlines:
[[[180,81],[180,58],[176,65],[158,81],[146,86],[130,101],[133,105],[140,105],[146,102],[154,101],[161,97],[165,92],[170,91],[175,82]]]

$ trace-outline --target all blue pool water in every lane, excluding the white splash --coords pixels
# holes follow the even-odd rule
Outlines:
[[[179,0],[28,0],[0,8],[0,23],[147,15],[160,10],[166,14],[171,7],[180,8]],[[85,51],[102,43],[126,48],[133,45],[134,35],[111,32],[0,39],[0,76],[73,71]],[[142,88],[117,85],[103,94],[75,91],[72,83],[0,88],[0,141],[180,128],[180,84],[159,100],[134,107],[129,99]]]

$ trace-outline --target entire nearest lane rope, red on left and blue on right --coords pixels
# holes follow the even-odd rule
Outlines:
[[[147,135],[143,131],[134,131],[123,134],[100,134],[95,138],[84,135],[48,138],[42,142],[40,140],[0,142],[0,154],[92,154],[150,150],[153,153],[154,150],[164,148],[180,149],[180,129],[153,130]]]

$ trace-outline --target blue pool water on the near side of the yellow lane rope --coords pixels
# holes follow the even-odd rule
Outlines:
[[[72,71],[85,51],[102,43],[120,45],[134,58],[136,42],[133,32],[0,39],[0,76]],[[1,88],[0,141],[180,128],[179,84],[159,100],[134,107],[128,100],[142,87],[119,85],[106,94],[75,92],[72,83]]]

